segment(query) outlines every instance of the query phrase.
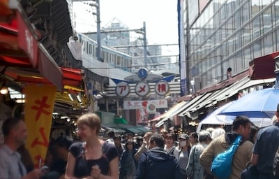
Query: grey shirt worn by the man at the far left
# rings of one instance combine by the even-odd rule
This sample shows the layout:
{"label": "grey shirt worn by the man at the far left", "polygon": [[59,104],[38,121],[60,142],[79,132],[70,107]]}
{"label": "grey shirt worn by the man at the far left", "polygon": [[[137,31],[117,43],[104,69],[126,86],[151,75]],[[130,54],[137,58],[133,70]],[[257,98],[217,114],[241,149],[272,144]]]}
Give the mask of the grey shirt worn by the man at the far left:
{"label": "grey shirt worn by the man at the far left", "polygon": [[27,174],[18,152],[10,150],[7,145],[0,145],[0,156],[1,179],[17,179]]}

